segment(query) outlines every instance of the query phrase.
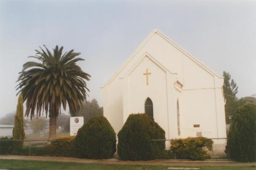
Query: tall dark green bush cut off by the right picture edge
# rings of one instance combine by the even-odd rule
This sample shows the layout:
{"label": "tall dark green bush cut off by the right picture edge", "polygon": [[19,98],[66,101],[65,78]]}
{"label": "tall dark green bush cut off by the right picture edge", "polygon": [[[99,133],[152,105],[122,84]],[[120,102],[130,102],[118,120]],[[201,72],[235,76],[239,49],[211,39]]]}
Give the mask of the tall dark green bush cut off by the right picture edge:
{"label": "tall dark green bush cut off by the right picture edge", "polygon": [[237,109],[231,119],[226,153],[242,162],[256,161],[256,105]]}

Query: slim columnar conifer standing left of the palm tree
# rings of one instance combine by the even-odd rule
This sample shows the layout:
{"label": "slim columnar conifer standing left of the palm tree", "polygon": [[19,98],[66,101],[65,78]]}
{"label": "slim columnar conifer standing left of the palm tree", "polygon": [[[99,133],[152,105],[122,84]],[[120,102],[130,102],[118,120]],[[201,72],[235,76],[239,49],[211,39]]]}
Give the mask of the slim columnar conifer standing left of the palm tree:
{"label": "slim columnar conifer standing left of the palm tree", "polygon": [[[17,113],[15,115],[14,127],[12,131],[13,139],[25,139],[24,132],[24,119],[23,119],[23,98],[22,95],[19,95],[18,104],[17,104]],[[23,145],[23,141],[17,142],[18,145]]]}

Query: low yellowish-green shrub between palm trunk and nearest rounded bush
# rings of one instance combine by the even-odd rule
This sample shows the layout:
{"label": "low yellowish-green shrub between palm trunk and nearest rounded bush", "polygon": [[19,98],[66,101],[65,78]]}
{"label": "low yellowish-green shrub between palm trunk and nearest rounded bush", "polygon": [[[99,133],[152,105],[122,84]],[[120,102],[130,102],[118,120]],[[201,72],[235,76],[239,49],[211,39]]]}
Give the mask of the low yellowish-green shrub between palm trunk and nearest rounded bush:
{"label": "low yellowish-green shrub between palm trunk and nearest rounded bush", "polygon": [[57,137],[50,145],[47,145],[47,155],[58,157],[73,157],[75,156],[74,147],[75,136]]}

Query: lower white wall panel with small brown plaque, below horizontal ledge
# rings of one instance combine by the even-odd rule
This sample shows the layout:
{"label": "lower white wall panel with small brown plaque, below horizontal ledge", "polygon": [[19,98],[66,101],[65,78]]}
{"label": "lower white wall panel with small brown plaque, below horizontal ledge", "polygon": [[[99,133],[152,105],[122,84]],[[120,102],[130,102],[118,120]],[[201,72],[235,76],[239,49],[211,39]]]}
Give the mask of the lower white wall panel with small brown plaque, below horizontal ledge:
{"label": "lower white wall panel with small brown plaque, below horizontal ledge", "polygon": [[[202,136],[216,138],[217,120],[215,114],[214,90],[182,91],[180,98],[180,125],[182,137]],[[194,127],[199,125],[199,127]]]}

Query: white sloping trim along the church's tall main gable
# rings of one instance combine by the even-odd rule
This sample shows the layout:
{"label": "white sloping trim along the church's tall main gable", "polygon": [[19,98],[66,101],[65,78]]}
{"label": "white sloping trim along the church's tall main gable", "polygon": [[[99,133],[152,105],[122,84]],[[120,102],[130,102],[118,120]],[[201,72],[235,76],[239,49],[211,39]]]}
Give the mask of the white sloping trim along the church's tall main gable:
{"label": "white sloping trim along the church's tall main gable", "polygon": [[[169,42],[170,44],[172,44],[175,48],[177,48],[177,50],[179,50],[181,53],[185,54],[188,58],[190,58],[192,61],[194,61],[196,64],[198,64],[198,66],[202,67],[204,70],[206,70],[207,72],[209,72],[211,75],[216,76],[218,78],[223,78],[222,76],[219,76],[218,74],[216,74],[214,71],[212,71],[210,68],[206,67],[202,62],[200,62],[199,60],[197,60],[193,55],[189,54],[186,50],[184,50],[182,47],[180,47],[177,43],[173,42],[169,37],[167,37],[166,35],[164,35],[163,33],[161,33],[161,31],[154,29],[153,31],[151,31],[151,33],[147,36],[147,38],[136,48],[136,50],[132,53],[132,55],[130,55],[130,57],[124,62],[123,66],[121,68],[119,68],[115,74],[108,80],[108,82],[103,86],[105,87],[106,85],[108,85],[109,83],[112,82],[112,80],[115,79],[115,77],[125,68],[125,66],[134,58],[134,56],[141,50],[141,48],[143,46],[145,46],[145,44],[147,44],[147,42],[149,41],[149,39],[154,35],[154,34],[158,34],[159,36],[161,36],[162,38],[164,38],[167,42]],[[102,87],[102,88],[103,88]]]}

